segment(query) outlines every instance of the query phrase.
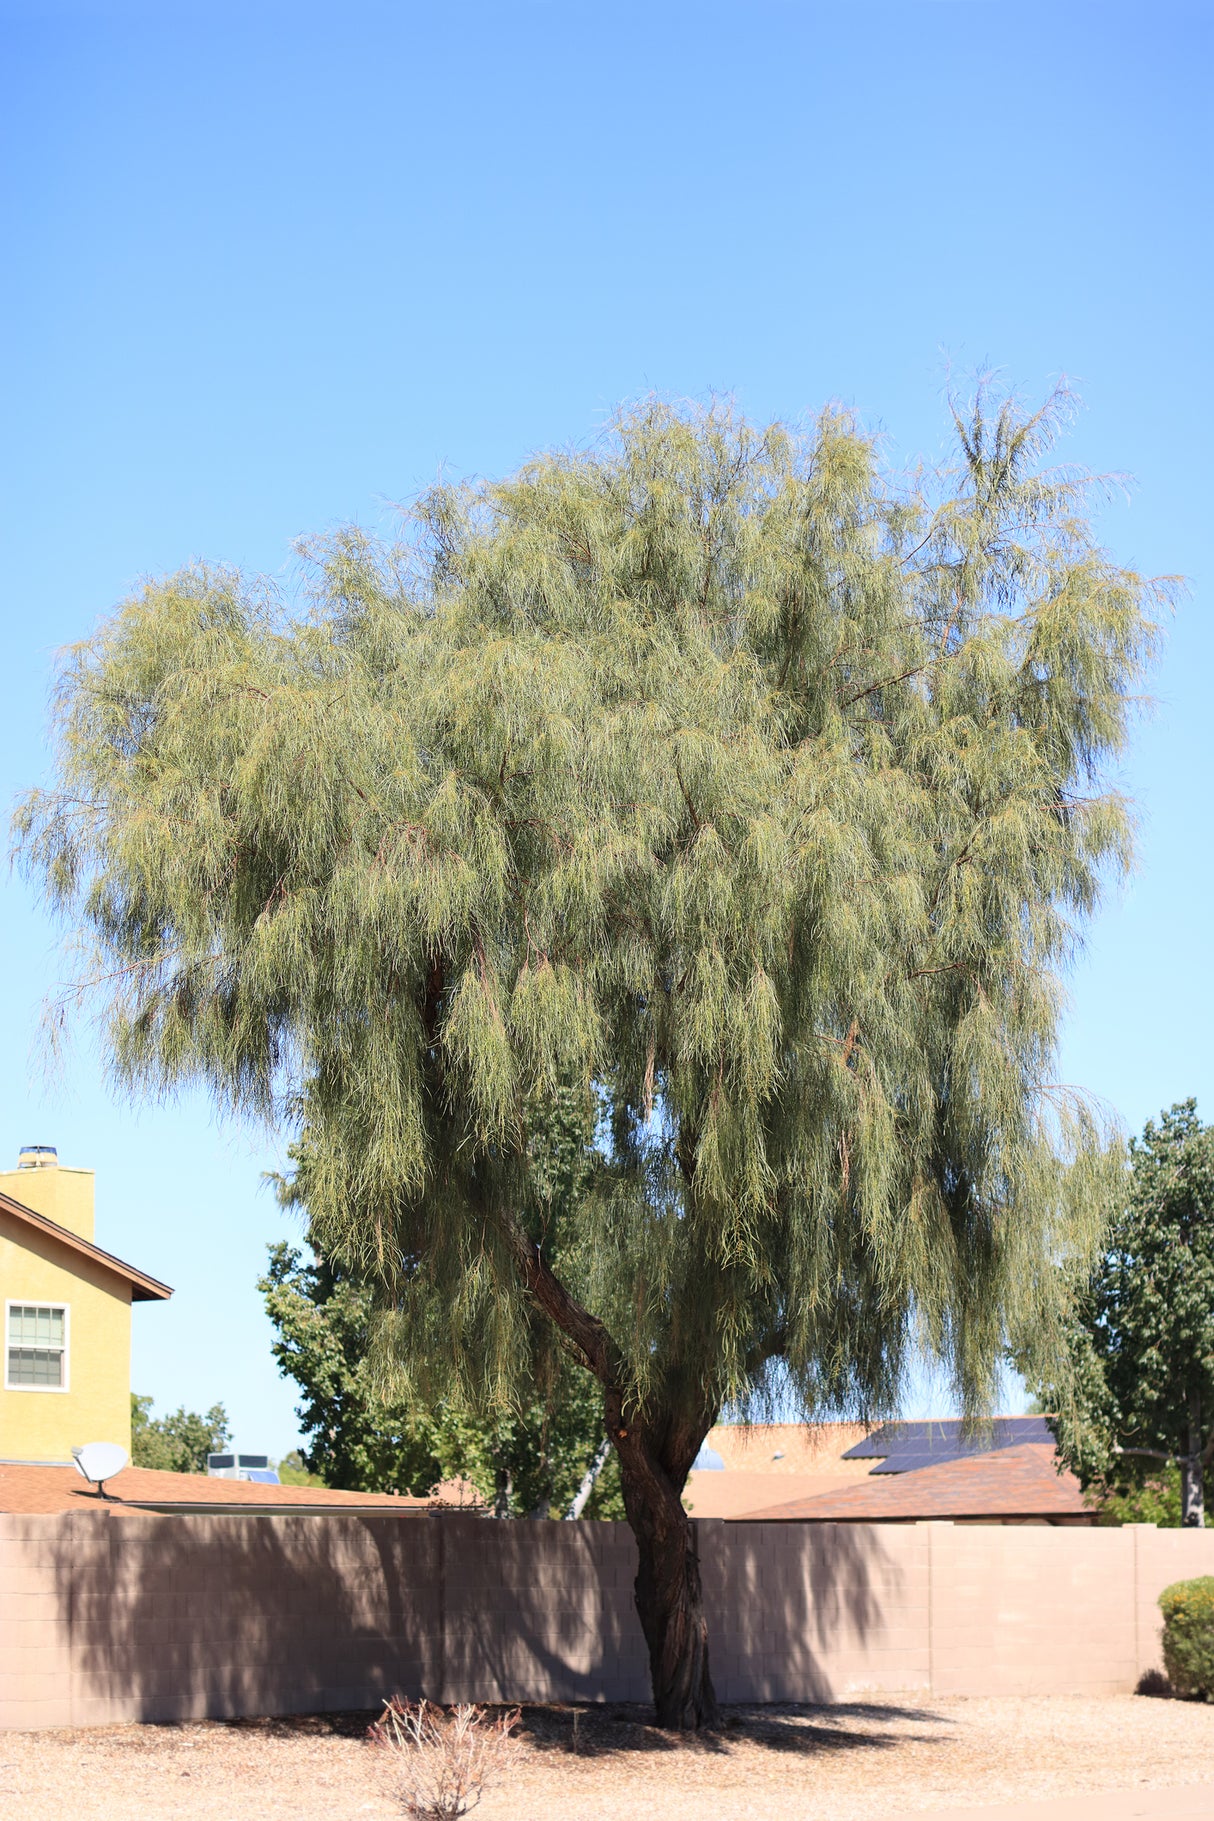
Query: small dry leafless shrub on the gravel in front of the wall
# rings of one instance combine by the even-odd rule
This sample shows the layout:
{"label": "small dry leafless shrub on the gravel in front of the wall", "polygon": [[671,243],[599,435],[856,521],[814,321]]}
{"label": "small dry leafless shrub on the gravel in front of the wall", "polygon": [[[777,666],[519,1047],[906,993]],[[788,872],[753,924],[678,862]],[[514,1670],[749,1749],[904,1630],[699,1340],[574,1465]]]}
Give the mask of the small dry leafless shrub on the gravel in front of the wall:
{"label": "small dry leafless shrub on the gravel in front of the wall", "polygon": [[493,1717],[482,1706],[446,1712],[433,1701],[393,1695],[368,1737],[391,1752],[393,1792],[411,1821],[455,1821],[510,1772],[517,1724],[519,1708]]}

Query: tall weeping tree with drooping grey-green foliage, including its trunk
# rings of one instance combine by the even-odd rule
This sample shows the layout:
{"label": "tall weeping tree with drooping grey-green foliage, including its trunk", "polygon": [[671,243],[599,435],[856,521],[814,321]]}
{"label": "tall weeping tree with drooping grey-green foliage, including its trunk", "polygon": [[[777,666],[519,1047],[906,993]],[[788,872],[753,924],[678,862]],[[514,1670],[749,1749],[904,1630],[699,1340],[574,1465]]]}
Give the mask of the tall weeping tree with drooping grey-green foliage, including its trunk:
{"label": "tall weeping tree with drooping grey-green foliage, including its trunk", "polygon": [[979,1409],[1094,1242],[1059,969],[1161,590],[1043,468],[1065,404],[981,395],[905,483],[841,412],[646,402],[64,661],[18,838],[116,1074],[298,1124],[402,1371],[510,1395],[541,1317],[593,1375],[668,1726],[715,1712],[681,1490],[723,1404],[885,1413],[928,1348]]}

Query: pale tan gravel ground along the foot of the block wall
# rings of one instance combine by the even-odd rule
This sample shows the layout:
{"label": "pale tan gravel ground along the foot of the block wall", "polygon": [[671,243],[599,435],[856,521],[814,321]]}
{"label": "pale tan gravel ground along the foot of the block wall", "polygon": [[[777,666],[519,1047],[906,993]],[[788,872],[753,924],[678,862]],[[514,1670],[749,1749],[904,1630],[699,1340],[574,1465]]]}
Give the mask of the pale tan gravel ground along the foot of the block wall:
{"label": "pale tan gravel ground along the foot of the block wall", "polygon": [[[11,1732],[0,1808],[20,1799],[40,1821],[399,1816],[368,1719]],[[526,1708],[521,1741],[479,1821],[894,1821],[1077,1792],[1214,1792],[1214,1706],[1136,1695],[730,1708],[721,1734],[690,1741],[641,1708]]]}

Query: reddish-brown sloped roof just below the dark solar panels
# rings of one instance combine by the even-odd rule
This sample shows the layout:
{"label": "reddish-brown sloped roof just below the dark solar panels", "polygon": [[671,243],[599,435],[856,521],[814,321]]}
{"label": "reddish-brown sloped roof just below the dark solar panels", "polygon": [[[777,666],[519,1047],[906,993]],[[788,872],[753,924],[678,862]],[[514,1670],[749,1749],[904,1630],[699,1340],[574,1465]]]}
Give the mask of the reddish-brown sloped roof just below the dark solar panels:
{"label": "reddish-brown sloped roof just below the dark solar panels", "polygon": [[1056,1453],[1037,1442],[999,1448],[912,1473],[870,1477],[812,1499],[792,1499],[739,1513],[748,1521],[872,1524],[919,1519],[1088,1519],[1079,1480],[1056,1470]]}

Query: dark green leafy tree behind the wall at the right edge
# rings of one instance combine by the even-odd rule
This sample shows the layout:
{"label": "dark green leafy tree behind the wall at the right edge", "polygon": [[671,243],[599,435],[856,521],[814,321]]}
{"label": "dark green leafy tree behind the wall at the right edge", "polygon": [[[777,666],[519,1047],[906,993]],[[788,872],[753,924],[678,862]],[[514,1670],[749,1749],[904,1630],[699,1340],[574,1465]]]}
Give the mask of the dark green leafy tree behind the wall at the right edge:
{"label": "dark green leafy tree behind the wall at the right edge", "polygon": [[[1127,1193],[1076,1298],[1059,1450],[1108,1515],[1205,1522],[1214,1464],[1214,1129],[1183,1100],[1130,1144]],[[1179,1477],[1176,1499],[1176,1473]],[[1170,1497],[1168,1497],[1170,1493]],[[1132,1521],[1132,1519],[1127,1519]]]}

